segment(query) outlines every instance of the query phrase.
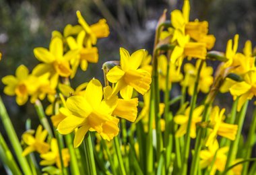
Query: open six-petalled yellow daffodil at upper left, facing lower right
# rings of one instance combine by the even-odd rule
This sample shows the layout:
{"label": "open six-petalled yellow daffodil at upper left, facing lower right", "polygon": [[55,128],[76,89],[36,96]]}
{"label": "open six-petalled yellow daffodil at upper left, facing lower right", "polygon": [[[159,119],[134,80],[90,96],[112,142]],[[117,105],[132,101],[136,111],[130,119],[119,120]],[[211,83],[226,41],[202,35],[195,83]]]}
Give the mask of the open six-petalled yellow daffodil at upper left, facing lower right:
{"label": "open six-petalled yellow daffodil at upper left, facing lower right", "polygon": [[77,50],[69,50],[63,53],[63,41],[61,38],[53,38],[50,43],[49,50],[46,48],[34,48],[34,55],[38,61],[42,61],[37,65],[32,74],[43,75],[44,73],[51,73],[51,83],[57,86],[59,76],[69,77],[72,73],[69,61],[77,57]]}

